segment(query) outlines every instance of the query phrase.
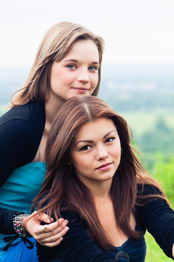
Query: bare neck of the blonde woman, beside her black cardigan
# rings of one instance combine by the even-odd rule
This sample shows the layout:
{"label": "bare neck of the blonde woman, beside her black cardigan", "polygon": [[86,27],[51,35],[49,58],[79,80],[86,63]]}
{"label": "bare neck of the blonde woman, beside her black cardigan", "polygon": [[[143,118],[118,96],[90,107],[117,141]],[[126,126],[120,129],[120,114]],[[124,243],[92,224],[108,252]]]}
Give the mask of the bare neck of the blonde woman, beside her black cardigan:
{"label": "bare neck of the blonde woman, beside her black cardigan", "polygon": [[64,102],[64,100],[57,97],[55,98],[55,96],[50,93],[50,99],[45,103],[46,123],[49,126]]}

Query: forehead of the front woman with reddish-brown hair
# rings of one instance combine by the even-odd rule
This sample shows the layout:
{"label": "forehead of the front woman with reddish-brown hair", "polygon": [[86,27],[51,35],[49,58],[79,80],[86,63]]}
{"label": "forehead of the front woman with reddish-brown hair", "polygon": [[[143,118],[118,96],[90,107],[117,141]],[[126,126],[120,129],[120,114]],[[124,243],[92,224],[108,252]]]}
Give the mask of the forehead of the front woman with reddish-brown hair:
{"label": "forehead of the front woman with reddish-brown hair", "polygon": [[[100,118],[99,120],[95,122],[86,123],[79,128],[77,132],[77,136],[75,137],[75,140],[78,139],[97,139],[102,138],[108,134],[110,131],[117,132],[117,129],[111,119],[107,118]],[[111,132],[112,134],[112,132]]]}

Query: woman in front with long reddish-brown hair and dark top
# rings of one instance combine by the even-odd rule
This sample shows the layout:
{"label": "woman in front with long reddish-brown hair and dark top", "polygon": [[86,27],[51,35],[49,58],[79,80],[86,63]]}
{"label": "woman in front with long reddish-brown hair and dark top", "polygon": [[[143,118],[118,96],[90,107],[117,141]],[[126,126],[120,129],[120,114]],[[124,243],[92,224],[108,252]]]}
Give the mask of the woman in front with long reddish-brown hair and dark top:
{"label": "woman in front with long reddish-brown hair and dark top", "polygon": [[38,243],[39,261],[142,262],[146,229],[173,259],[174,212],[134,152],[126,121],[105,102],[85,96],[64,103],[32,210],[64,217],[69,231],[56,247]]}

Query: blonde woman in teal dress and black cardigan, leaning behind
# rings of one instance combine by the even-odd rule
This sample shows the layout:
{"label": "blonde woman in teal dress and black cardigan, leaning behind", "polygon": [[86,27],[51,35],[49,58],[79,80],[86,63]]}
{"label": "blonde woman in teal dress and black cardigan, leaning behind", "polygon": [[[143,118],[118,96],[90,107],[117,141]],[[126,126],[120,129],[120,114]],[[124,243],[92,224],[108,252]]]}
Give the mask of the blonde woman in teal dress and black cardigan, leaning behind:
{"label": "blonde woman in teal dress and black cardigan, leaning behind", "polygon": [[[16,256],[13,261],[37,261],[35,247],[21,254],[21,240],[29,249],[33,247],[29,235],[41,245],[54,247],[68,230],[68,221],[61,218],[50,223],[46,214],[38,222],[32,214],[25,226],[22,223],[43,183],[50,125],[68,98],[98,94],[103,49],[103,39],[81,25],[61,22],[52,26],[41,41],[26,83],[12,99],[12,108],[0,118],[2,261],[8,261],[12,248]],[[48,224],[46,229],[41,221]]]}

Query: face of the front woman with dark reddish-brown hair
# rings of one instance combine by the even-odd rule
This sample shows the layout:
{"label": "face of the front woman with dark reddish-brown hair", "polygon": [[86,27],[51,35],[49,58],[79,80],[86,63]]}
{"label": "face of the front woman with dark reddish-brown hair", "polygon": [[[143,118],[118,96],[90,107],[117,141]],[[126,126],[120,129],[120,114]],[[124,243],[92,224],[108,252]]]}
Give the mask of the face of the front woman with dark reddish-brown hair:
{"label": "face of the front woman with dark reddish-brown hair", "polygon": [[113,178],[120,162],[121,146],[112,120],[83,125],[70,145],[70,160],[77,177],[85,184]]}

